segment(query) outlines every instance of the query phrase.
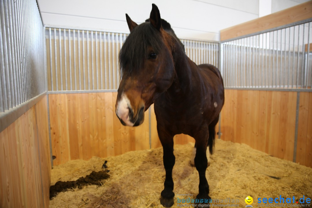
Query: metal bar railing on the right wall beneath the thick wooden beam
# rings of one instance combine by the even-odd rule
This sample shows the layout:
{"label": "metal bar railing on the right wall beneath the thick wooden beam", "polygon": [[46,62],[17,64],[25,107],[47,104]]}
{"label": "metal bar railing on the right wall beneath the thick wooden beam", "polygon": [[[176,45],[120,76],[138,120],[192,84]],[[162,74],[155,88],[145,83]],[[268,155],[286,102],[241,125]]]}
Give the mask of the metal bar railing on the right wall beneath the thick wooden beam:
{"label": "metal bar railing on the right wall beneath the thick wooden beam", "polygon": [[221,42],[225,87],[311,90],[311,19]]}

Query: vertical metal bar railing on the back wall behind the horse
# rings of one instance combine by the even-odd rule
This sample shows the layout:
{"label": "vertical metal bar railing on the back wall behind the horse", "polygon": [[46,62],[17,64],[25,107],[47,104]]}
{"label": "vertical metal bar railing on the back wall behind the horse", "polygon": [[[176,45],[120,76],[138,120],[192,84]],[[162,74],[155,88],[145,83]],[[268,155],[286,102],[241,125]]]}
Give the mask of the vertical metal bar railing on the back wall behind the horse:
{"label": "vertical metal bar railing on the back wall behind the horse", "polygon": [[[49,91],[116,90],[125,33],[46,27]],[[197,64],[218,64],[218,42],[181,40]]]}

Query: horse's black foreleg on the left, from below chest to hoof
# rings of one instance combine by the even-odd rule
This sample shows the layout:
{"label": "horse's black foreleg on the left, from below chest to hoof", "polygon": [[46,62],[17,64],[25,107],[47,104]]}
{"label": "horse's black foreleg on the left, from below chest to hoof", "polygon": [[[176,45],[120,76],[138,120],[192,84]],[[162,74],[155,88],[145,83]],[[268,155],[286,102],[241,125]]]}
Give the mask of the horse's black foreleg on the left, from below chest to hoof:
{"label": "horse's black foreleg on the left, from below chest to hoof", "polygon": [[164,189],[161,192],[160,203],[164,207],[171,207],[173,205],[173,179],[172,179],[172,169],[175,163],[175,157],[173,154],[173,137],[168,135],[163,135],[159,133],[159,139],[163,145],[163,166],[166,170],[166,179],[164,182]]}

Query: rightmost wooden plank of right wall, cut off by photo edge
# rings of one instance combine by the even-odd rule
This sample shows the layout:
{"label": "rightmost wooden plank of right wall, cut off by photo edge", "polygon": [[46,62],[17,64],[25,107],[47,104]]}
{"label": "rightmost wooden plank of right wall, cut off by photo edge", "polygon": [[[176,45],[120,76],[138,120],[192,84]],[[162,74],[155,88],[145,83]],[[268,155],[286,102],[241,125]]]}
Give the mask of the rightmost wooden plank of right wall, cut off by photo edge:
{"label": "rightmost wooden plank of right wall, cut off by photo edge", "polygon": [[308,112],[308,129],[307,144],[305,146],[305,166],[312,167],[312,92],[309,93],[309,112]]}

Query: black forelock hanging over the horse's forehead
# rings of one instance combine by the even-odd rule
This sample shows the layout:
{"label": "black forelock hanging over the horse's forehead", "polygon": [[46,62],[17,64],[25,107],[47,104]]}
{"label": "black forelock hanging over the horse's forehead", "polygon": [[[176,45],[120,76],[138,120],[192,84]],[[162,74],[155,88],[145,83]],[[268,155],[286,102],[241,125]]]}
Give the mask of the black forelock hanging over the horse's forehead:
{"label": "black forelock hanging over the horse's forehead", "polygon": [[129,72],[142,67],[144,60],[149,58],[150,47],[153,48],[153,52],[159,53],[163,43],[158,32],[149,22],[134,27],[119,52],[121,75],[123,75],[126,66],[129,67]]}

